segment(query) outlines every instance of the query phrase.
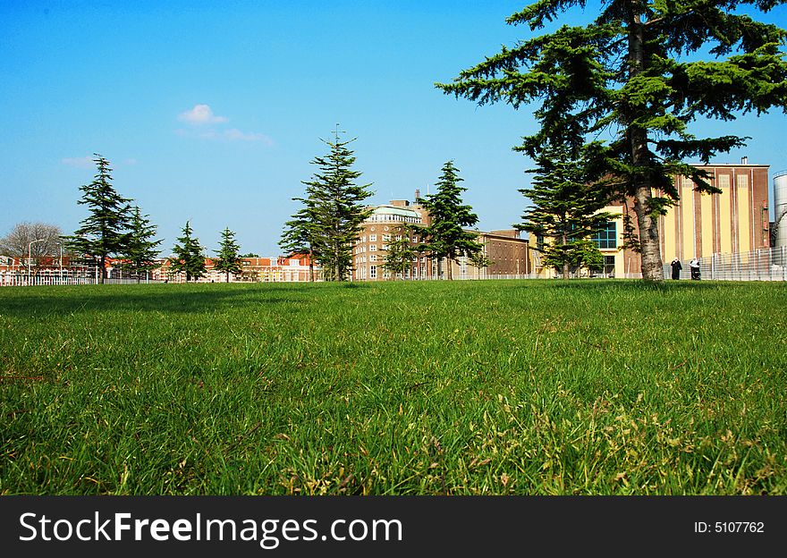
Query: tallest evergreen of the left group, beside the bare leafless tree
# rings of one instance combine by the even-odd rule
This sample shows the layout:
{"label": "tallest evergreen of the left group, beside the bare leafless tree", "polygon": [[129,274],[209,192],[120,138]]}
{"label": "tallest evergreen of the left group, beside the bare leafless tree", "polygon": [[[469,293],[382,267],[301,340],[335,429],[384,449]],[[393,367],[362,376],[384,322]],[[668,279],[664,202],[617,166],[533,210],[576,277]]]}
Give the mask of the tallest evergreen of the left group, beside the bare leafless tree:
{"label": "tallest evergreen of the left group, beside the bare leafless tree", "polygon": [[72,236],[64,237],[66,246],[91,258],[100,269],[100,281],[106,279],[106,258],[123,254],[129,242],[131,199],[123,198],[112,185],[112,169],[103,156],[93,161],[98,171],[93,182],[80,186],[82,197],[77,202],[89,208],[90,215]]}

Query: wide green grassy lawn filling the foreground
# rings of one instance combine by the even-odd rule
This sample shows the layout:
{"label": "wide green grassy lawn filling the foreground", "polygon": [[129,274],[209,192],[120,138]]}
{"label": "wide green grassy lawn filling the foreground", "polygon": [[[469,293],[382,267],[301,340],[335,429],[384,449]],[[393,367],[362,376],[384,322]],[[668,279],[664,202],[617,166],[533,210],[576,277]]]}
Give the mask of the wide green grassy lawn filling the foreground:
{"label": "wide green grassy lawn filling the foreground", "polygon": [[0,494],[787,494],[787,288],[0,290]]}

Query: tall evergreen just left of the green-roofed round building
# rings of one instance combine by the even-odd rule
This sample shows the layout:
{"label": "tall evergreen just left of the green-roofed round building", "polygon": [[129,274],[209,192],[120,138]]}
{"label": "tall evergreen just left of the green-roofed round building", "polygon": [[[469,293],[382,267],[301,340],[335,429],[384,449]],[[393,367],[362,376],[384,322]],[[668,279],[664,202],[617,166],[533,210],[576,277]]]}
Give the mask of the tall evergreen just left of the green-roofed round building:
{"label": "tall evergreen just left of the green-roofed round building", "polygon": [[293,230],[322,266],[326,281],[344,281],[351,274],[352,247],[360,237],[361,224],[371,215],[371,209],[361,203],[372,195],[371,184],[355,183],[361,173],[351,169],[355,156],[347,147],[354,139],[340,141],[337,132],[334,141],[323,141],[330,151],[311,161],[319,171],[303,182],[308,201],[305,211],[296,214],[307,225]]}

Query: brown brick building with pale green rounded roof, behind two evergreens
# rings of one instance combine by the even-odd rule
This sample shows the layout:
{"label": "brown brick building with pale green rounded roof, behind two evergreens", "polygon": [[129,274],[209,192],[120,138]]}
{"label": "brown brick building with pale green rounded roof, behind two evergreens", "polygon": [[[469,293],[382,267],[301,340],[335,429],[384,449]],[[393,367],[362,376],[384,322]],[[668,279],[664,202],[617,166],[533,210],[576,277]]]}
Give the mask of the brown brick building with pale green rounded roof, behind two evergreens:
{"label": "brown brick building with pale green rounded roof, behind two evergreens", "polygon": [[[415,192],[419,199],[419,190]],[[419,204],[406,199],[394,199],[389,204],[377,206],[363,223],[360,238],[352,253],[353,281],[383,281],[393,279],[385,269],[385,256],[391,241],[402,239],[407,225],[428,226],[431,219],[427,210]],[[483,253],[491,260],[486,268],[472,266],[469,258],[459,258],[452,262],[452,276],[456,279],[476,279],[485,277],[504,277],[528,275],[530,273],[529,242],[519,237],[518,231],[478,232],[478,242]],[[410,240],[413,241],[410,237]],[[439,279],[447,275],[444,260],[430,258],[420,253],[412,260],[401,279]]]}

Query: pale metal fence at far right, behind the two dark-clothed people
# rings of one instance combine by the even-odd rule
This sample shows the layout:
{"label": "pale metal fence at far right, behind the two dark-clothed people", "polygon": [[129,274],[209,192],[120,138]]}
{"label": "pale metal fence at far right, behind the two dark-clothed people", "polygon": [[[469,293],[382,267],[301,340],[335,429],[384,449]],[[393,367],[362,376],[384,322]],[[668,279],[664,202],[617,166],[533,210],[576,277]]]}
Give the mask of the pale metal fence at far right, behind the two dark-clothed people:
{"label": "pale metal fence at far right, behind the two dark-clothed people", "polygon": [[[682,261],[681,279],[690,279],[689,260]],[[787,247],[757,249],[736,254],[714,254],[699,261],[700,279],[715,281],[787,281]],[[672,276],[669,263],[664,277]]]}

